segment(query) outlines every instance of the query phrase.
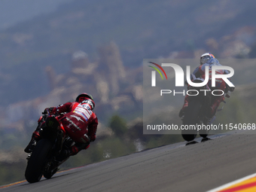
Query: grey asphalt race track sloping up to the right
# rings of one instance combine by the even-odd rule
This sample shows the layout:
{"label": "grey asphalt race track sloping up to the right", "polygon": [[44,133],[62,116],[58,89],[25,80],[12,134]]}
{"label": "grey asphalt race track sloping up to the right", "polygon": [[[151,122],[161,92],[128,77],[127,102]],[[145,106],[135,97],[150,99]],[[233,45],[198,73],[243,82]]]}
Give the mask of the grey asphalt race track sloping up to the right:
{"label": "grey asphalt race track sloping up to the right", "polygon": [[0,191],[189,191],[211,190],[256,172],[256,135],[213,136],[94,163]]}

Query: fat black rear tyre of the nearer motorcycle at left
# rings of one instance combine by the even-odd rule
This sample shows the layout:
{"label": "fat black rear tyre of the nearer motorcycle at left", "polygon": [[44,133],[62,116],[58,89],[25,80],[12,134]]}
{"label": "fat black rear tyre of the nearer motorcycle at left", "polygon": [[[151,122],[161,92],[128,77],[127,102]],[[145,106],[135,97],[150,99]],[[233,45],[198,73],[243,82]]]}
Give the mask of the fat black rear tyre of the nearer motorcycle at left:
{"label": "fat black rear tyre of the nearer motorcycle at left", "polygon": [[35,145],[32,155],[26,166],[25,178],[29,183],[40,181],[43,169],[47,160],[47,155],[52,148],[52,142],[48,139],[41,139]]}

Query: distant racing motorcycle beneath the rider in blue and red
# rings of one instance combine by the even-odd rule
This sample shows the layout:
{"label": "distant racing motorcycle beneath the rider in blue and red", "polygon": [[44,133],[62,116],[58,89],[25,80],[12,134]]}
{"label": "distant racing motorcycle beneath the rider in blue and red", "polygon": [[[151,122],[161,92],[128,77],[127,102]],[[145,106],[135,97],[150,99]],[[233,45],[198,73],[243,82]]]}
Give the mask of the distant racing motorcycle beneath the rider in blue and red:
{"label": "distant racing motorcycle beneath the rider in blue and red", "polygon": [[[202,83],[203,81],[204,80],[202,78],[197,78],[194,80],[194,83]],[[197,125],[212,124],[212,122],[215,120],[216,112],[221,111],[224,106],[221,109],[216,110],[215,115],[213,115],[212,118],[208,118],[206,117],[206,114],[209,111],[211,103],[214,99],[214,96],[212,96],[212,90],[209,88],[209,86],[207,84],[203,87],[189,86],[187,94],[188,105],[187,108],[185,108],[184,116],[181,117],[181,120],[184,126],[194,126],[194,129],[181,130],[181,136],[185,141],[191,142],[197,137]],[[199,134],[201,137],[203,137],[202,142],[208,140],[207,136],[209,134],[209,130],[201,129],[199,130]]]}

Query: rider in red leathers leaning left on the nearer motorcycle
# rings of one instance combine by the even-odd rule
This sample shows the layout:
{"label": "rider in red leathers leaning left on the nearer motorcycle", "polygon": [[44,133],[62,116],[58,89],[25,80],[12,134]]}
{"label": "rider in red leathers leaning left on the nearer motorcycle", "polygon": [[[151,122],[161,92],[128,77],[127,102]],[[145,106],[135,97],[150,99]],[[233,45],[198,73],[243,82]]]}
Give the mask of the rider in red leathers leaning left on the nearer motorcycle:
{"label": "rider in red leathers leaning left on the nearer motorcycle", "polygon": [[[93,97],[87,93],[80,94],[75,102],[66,102],[53,108],[46,108],[44,111],[50,111],[50,114],[63,114],[59,120],[62,122],[66,133],[75,142],[71,148],[62,150],[57,156],[57,160],[62,161],[67,157],[78,154],[82,149],[87,149],[90,142],[96,139],[96,130],[98,126],[98,118],[93,112],[95,103]],[[40,129],[46,126],[43,117],[38,120],[38,127],[32,134],[32,139],[29,145],[25,148],[26,153],[32,152],[36,142],[40,137]]]}

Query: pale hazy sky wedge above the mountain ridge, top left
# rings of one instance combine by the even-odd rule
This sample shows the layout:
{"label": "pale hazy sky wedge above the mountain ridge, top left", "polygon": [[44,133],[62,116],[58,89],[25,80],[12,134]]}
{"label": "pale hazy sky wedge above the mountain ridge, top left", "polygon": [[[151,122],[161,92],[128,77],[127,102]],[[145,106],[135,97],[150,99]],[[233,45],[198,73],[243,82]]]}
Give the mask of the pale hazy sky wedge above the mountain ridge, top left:
{"label": "pale hazy sky wedge above the mountain ridge, top left", "polygon": [[0,0],[0,30],[45,14],[74,0]]}

